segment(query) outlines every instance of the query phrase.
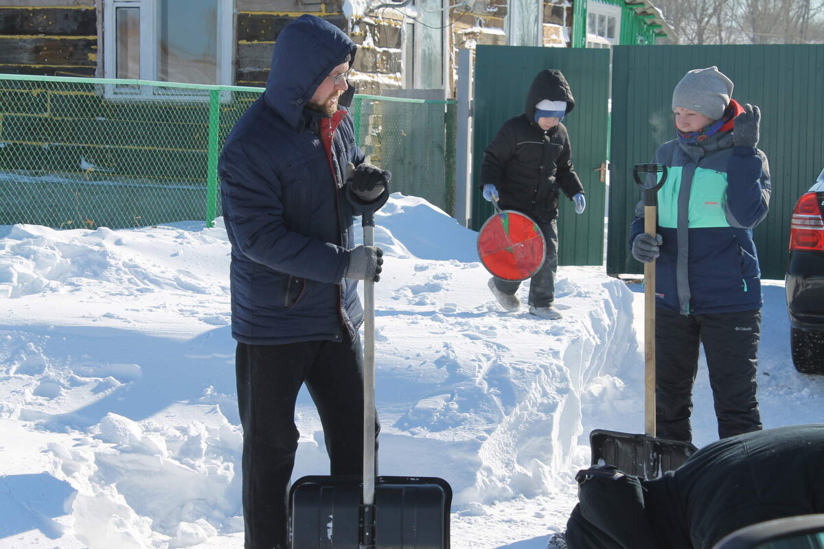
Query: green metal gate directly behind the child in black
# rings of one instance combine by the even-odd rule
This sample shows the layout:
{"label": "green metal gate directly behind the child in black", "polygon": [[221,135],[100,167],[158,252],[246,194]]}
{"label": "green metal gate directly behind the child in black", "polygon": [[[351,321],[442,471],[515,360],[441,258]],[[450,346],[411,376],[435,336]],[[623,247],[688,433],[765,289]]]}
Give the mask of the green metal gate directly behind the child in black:
{"label": "green metal gate directly behind the child in black", "polygon": [[576,106],[564,119],[573,162],[587,195],[587,210],[576,215],[562,197],[559,207],[559,263],[601,265],[606,185],[597,169],[606,162],[609,51],[606,49],[478,46],[475,58],[472,219],[479,230],[493,208],[480,194],[484,149],[508,119],[522,114],[536,74],[556,68],[569,81]]}

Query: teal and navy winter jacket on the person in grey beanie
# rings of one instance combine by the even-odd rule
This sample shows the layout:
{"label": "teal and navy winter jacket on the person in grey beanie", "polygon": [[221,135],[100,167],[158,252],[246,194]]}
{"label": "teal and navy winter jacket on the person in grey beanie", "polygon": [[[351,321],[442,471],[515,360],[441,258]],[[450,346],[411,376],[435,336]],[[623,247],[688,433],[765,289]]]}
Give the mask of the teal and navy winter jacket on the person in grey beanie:
{"label": "teal and navy winter jacket on the person in grey beanie", "polygon": [[[658,307],[681,314],[761,308],[752,229],[769,209],[770,168],[759,149],[733,147],[732,128],[731,121],[704,142],[676,139],[655,152],[653,162],[668,168],[658,190]],[[644,232],[643,201],[635,215],[630,246]]]}

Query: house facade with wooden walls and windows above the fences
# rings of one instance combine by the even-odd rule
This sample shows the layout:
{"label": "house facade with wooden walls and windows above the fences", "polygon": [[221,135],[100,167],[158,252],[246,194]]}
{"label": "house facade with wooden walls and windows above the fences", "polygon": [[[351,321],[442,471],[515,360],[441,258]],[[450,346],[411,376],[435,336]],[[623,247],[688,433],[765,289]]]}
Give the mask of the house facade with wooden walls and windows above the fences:
{"label": "house facade with wooden walls and windows above the fences", "polygon": [[360,93],[454,96],[459,49],[604,48],[672,29],[648,0],[7,0],[0,72],[264,86],[283,26],[303,13],[361,46]]}

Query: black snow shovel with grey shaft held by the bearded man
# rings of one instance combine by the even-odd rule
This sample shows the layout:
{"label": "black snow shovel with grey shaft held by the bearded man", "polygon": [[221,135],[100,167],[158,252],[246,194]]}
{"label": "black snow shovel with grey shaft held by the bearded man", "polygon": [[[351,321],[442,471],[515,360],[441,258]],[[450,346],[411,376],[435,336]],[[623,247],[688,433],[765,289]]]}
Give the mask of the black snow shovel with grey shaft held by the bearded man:
{"label": "black snow shovel with grey shaft held by the bearded man", "polygon": [[[374,212],[386,202],[347,198],[374,245]],[[291,549],[448,549],[452,488],[436,477],[377,477],[375,470],[375,283],[363,283],[363,477],[302,477],[289,491]]]}

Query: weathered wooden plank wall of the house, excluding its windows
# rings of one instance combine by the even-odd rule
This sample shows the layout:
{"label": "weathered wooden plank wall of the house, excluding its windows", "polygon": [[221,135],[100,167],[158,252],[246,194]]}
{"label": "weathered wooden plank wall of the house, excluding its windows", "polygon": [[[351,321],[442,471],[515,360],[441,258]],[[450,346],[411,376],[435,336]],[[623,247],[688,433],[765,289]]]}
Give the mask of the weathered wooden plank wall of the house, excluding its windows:
{"label": "weathered wooden plank wall of the house, excluding its windows", "polygon": [[[377,1],[377,0],[376,0]],[[6,0],[0,7],[0,72],[51,76],[102,77],[101,0]],[[562,0],[544,0],[544,43],[557,44],[572,10]],[[458,49],[506,44],[503,18],[507,0],[477,0],[470,10],[449,12],[447,63],[452,70],[447,96],[454,95]],[[403,17],[396,10],[353,16],[344,0],[236,0],[234,81],[265,86],[274,42],[297,16],[323,17],[361,46],[351,78],[363,94],[403,86]],[[379,15],[379,16],[378,16]]]}

